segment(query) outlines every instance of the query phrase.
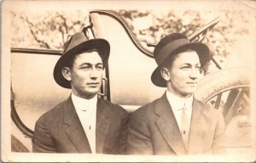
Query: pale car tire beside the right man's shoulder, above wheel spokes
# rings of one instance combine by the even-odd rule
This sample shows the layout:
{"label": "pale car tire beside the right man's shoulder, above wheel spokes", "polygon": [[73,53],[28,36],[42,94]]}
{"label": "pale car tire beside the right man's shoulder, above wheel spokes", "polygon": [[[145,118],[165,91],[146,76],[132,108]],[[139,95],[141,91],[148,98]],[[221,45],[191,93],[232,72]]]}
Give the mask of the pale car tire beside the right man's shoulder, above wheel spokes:
{"label": "pale car tire beside the right man's shoulder, above wheel spokes", "polygon": [[248,68],[244,67],[230,68],[204,76],[198,84],[195,97],[207,103],[218,93],[238,87],[249,87],[250,73],[248,73],[248,70]]}

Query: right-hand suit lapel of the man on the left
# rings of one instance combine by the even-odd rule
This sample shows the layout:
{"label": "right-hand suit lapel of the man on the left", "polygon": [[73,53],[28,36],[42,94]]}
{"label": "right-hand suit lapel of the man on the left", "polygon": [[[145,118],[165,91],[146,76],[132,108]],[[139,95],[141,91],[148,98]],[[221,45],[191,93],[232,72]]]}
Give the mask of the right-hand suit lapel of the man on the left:
{"label": "right-hand suit lapel of the man on the left", "polygon": [[[108,106],[98,98],[96,110],[96,153],[102,154],[110,126]],[[107,143],[107,142],[106,142]]]}

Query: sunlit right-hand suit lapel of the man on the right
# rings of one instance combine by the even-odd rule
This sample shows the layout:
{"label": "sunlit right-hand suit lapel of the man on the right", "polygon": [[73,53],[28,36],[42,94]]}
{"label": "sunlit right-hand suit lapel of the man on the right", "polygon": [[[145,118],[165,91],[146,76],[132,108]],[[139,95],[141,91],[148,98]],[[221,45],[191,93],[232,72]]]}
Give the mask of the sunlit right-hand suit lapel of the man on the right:
{"label": "sunlit right-hand suit lapel of the man on the right", "polygon": [[203,147],[203,137],[207,130],[207,114],[204,105],[194,98],[189,131],[189,154],[196,154]]}

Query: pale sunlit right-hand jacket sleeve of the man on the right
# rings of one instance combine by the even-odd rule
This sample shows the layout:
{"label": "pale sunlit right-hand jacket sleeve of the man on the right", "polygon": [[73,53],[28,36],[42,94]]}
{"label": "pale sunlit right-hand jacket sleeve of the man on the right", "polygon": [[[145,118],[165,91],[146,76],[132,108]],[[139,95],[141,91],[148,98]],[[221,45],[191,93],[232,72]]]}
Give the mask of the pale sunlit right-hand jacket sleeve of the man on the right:
{"label": "pale sunlit right-hand jacket sleeve of the man on the right", "polygon": [[212,143],[212,154],[223,155],[226,153],[225,143],[224,143],[224,117],[218,111],[218,120],[215,128],[213,143]]}

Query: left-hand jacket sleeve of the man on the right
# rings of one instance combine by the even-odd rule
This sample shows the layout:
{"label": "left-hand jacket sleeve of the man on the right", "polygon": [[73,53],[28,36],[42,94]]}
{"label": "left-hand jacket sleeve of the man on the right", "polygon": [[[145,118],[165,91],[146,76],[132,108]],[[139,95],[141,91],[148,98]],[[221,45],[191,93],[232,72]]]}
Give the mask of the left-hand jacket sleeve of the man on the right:
{"label": "left-hand jacket sleeve of the man on the right", "polygon": [[129,155],[154,155],[147,122],[137,114],[131,115],[128,126],[127,153]]}

